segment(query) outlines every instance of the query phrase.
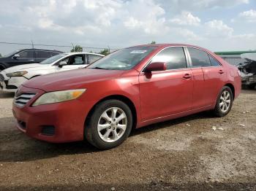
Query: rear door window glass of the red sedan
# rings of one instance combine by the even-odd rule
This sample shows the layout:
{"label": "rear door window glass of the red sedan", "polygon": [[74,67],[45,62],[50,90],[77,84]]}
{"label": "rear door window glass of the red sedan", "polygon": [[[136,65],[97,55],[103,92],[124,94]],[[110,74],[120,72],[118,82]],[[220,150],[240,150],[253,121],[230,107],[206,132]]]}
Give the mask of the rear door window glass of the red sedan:
{"label": "rear door window glass of the red sedan", "polygon": [[192,60],[192,67],[207,67],[211,66],[211,61],[206,52],[195,48],[188,48]]}

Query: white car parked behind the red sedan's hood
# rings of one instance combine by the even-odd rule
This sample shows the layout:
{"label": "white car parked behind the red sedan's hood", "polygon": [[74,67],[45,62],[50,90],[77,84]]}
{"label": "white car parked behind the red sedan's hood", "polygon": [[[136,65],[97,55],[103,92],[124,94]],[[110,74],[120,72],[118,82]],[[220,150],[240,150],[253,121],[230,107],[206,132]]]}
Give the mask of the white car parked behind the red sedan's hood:
{"label": "white car parked behind the red sedan's hood", "polygon": [[0,90],[15,92],[23,82],[33,77],[84,68],[102,57],[104,55],[91,52],[67,52],[55,55],[41,63],[10,67],[0,72]]}

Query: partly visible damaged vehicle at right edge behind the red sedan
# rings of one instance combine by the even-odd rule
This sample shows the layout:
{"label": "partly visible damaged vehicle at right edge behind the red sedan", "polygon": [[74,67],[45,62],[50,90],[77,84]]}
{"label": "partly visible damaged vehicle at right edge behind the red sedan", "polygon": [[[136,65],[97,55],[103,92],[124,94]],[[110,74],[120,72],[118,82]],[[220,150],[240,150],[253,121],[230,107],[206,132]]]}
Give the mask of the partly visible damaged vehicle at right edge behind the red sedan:
{"label": "partly visible damaged vehicle at right edge behind the red sedan", "polygon": [[256,85],[256,53],[241,54],[245,61],[237,65],[241,72],[242,85],[250,90],[255,89]]}

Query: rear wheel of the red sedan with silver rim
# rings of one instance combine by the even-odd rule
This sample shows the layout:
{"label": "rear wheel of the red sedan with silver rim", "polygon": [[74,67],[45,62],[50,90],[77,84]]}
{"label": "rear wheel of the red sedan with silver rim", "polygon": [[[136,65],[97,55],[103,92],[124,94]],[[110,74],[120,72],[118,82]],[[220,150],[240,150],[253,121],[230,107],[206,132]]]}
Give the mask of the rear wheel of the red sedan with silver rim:
{"label": "rear wheel of the red sedan with silver rim", "polygon": [[220,91],[214,108],[214,114],[217,117],[224,117],[230,112],[233,104],[233,93],[230,87],[224,86]]}

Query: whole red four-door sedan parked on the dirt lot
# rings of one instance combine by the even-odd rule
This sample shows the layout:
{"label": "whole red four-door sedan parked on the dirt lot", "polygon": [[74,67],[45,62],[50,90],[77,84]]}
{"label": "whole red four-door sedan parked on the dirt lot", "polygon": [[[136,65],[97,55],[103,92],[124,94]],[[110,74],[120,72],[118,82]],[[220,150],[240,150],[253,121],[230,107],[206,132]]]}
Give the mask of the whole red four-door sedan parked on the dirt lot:
{"label": "whole red four-door sedan parked on the dirt lot", "polygon": [[128,47],[86,69],[25,82],[15,94],[17,128],[49,142],[121,144],[132,128],[206,110],[225,116],[241,91],[238,69],[201,47]]}

